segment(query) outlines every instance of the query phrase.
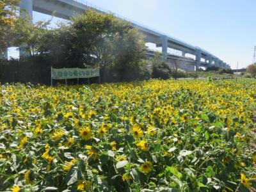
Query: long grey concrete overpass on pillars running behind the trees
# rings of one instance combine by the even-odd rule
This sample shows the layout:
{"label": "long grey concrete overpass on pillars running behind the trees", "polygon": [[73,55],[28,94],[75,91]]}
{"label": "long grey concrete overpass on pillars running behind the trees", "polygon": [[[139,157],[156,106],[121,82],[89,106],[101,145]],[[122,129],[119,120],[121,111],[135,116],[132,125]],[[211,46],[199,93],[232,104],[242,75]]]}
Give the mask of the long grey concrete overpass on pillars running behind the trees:
{"label": "long grey concrete overpass on pillars running behind the trees", "polygon": [[[86,10],[92,9],[103,13],[111,13],[108,10],[103,10],[102,8],[94,6],[93,4],[90,4],[84,0],[22,0],[20,3],[20,8],[27,10],[27,12],[31,15],[31,18],[33,17],[33,11],[35,11],[45,13],[47,15],[52,15],[54,13],[56,17],[67,20],[69,20],[70,17],[83,14],[86,12]],[[143,33],[143,35],[145,35],[146,43],[153,43],[156,44],[156,47],[161,47],[164,60],[181,60],[184,61],[184,63],[188,63],[188,65],[193,65],[193,68],[211,67],[212,65],[216,67],[230,68],[230,66],[221,61],[220,58],[200,47],[189,45],[186,42],[178,40],[177,38],[173,38],[172,36],[161,33],[160,31],[148,28],[142,24],[138,24],[135,21],[122,17],[121,15],[114,15],[120,19],[131,22],[132,27],[138,29],[141,31],[141,33]],[[168,53],[168,48],[181,51],[182,56],[179,56],[179,58],[177,58],[177,56],[173,56],[172,54]],[[20,52],[20,55],[24,54],[26,53]],[[195,60],[188,59],[186,54],[194,55]],[[152,51],[150,52],[148,50],[148,55],[152,55]],[[186,69],[186,67],[184,69]],[[187,70],[191,69],[191,67],[187,68]]]}

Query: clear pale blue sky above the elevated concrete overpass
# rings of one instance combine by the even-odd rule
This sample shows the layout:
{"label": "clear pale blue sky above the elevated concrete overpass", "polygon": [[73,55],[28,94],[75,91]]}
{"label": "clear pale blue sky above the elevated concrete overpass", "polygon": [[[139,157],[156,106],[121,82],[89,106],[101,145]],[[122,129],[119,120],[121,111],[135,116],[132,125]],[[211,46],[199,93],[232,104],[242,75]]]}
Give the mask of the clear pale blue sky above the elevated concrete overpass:
{"label": "clear pale blue sky above the elevated concrete overpass", "polygon": [[[77,0],[81,1],[81,0]],[[218,56],[232,68],[252,63],[256,0],[91,0]],[[33,13],[34,20],[49,19]],[[58,19],[54,19],[56,21]]]}

